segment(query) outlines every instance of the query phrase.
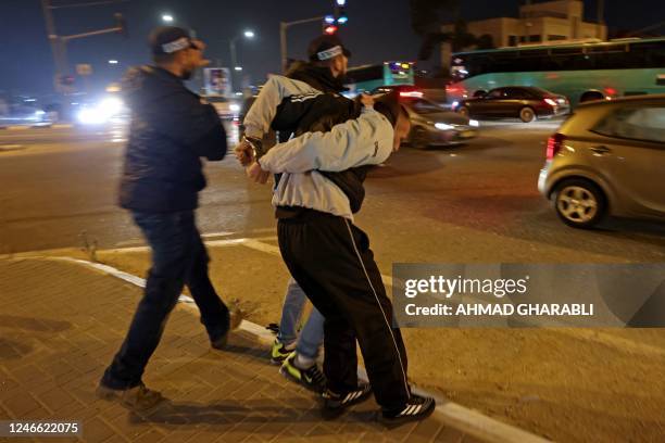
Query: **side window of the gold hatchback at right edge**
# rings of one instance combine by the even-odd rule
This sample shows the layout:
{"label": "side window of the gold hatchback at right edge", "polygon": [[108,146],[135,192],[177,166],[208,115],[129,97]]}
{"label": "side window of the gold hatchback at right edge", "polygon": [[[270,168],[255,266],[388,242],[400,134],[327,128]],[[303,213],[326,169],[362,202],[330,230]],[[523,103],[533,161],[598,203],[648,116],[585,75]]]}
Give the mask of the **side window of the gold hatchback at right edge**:
{"label": "side window of the gold hatchback at right edge", "polygon": [[608,137],[665,143],[665,106],[617,110],[601,121],[593,131]]}

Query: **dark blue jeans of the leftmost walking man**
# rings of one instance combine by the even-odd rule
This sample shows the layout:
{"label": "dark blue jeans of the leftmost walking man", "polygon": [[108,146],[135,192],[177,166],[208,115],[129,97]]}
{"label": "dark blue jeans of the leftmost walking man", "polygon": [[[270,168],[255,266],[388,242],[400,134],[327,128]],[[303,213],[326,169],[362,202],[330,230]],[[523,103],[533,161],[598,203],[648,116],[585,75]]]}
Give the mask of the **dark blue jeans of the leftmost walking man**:
{"label": "dark blue jeans of the leftmost walking man", "polygon": [[134,212],[133,216],[152,250],[152,267],[127,337],[101,380],[112,389],[141,383],[146,365],[185,286],[199,306],[211,341],[227,333],[230,325],[228,308],[208,277],[209,257],[193,211]]}

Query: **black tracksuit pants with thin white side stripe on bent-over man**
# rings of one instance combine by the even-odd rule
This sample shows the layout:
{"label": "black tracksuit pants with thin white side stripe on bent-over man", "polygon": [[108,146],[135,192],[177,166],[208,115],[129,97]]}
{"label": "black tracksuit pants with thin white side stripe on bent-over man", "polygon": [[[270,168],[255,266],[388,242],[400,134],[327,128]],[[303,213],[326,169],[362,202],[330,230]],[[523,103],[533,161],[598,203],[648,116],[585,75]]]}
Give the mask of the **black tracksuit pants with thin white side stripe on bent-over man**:
{"label": "black tracksuit pants with thin white side stripe on bent-over man", "polygon": [[367,235],[346,218],[312,210],[280,217],[277,232],[291,275],[326,319],[328,389],[356,389],[357,339],[377,403],[403,407],[410,395],[406,352]]}

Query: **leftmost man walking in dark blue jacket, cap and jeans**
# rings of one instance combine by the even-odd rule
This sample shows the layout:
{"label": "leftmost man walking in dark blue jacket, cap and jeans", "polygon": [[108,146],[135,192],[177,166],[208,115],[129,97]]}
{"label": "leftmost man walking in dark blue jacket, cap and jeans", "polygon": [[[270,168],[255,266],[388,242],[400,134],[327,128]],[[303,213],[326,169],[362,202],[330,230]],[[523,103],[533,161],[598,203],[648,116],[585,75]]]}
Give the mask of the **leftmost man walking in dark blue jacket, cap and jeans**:
{"label": "leftmost man walking in dark blue jacket, cap and jeans", "polygon": [[121,181],[121,206],[131,212],[152,250],[146,290],[125,341],[106,368],[98,395],[148,409],[163,400],[141,377],[166,319],[187,286],[213,347],[223,347],[229,309],[208,277],[209,257],[195,221],[205,187],[201,157],[219,161],[226,134],[214,107],[183,80],[203,66],[204,46],[177,27],[150,36],[154,64],[129,69],[123,85],[131,126]]}

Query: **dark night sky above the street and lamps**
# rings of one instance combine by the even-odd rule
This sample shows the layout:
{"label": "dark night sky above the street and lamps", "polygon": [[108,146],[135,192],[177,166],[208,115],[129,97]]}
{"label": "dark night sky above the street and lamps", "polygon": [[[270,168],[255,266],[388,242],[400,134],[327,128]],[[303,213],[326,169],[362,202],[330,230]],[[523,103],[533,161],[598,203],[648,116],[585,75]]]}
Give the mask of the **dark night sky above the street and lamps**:
{"label": "dark night sky above the street and lamps", "polygon": [[[53,4],[91,0],[53,0]],[[279,22],[296,21],[331,12],[332,0],[130,0],[126,3],[54,11],[60,35],[78,34],[113,26],[113,13],[122,12],[129,37],[106,35],[76,40],[68,46],[70,65],[91,64],[92,84],[118,78],[127,66],[149,60],[146,36],[160,25],[161,14],[172,13],[179,26],[196,29],[208,42],[206,56],[228,65],[228,39],[251,28],[253,41],[238,41],[238,62],[262,83],[279,67]],[[387,60],[415,61],[418,37],[412,31],[409,0],[348,0],[349,23],[340,33],[353,52],[351,65]],[[606,0],[606,22],[614,28],[638,29],[665,17],[663,0]],[[467,20],[516,16],[519,0],[463,0]],[[595,0],[588,0],[587,20],[595,20]],[[321,34],[319,24],[289,29],[289,56],[304,59],[310,39]],[[226,41],[225,41],[226,40]],[[112,66],[108,60],[117,59]],[[0,91],[41,94],[50,92],[53,61],[47,41],[39,0],[0,0]],[[432,63],[438,61],[432,60]]]}

